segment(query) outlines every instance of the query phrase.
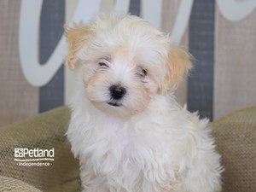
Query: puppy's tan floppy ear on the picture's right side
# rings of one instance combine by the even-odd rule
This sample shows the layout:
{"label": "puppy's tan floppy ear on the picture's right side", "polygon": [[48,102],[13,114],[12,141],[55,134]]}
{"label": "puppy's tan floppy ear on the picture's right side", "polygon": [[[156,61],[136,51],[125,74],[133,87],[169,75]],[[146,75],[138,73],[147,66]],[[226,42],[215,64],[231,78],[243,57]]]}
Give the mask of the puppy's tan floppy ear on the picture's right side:
{"label": "puppy's tan floppy ear on the picture's right side", "polygon": [[183,77],[189,73],[191,69],[192,55],[184,49],[172,46],[168,54],[166,62],[166,75],[162,92],[167,93],[175,90],[177,85],[183,80]]}

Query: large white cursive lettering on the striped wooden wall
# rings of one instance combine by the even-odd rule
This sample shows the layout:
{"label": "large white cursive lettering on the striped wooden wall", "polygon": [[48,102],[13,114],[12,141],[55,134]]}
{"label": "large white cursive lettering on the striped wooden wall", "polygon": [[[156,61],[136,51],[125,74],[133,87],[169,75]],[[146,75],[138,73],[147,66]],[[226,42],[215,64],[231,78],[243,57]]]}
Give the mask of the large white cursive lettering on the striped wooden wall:
{"label": "large white cursive lettering on the striped wooden wall", "polygon": [[[102,0],[79,0],[72,23],[87,23],[90,18],[101,9]],[[194,0],[182,0],[171,32],[175,44],[179,44],[185,28],[189,23],[189,16]],[[255,0],[237,2],[236,0],[217,0],[218,8],[227,20],[237,21],[247,17],[256,8]],[[20,7],[19,52],[22,72],[26,80],[34,86],[48,84],[63,62],[67,44],[64,36],[56,45],[49,60],[44,65],[38,61],[39,20],[43,0],[22,0]],[[116,0],[113,10],[126,14],[130,0]],[[162,1],[142,0],[142,17],[153,26],[160,28]],[[70,25],[72,25],[72,23]]]}

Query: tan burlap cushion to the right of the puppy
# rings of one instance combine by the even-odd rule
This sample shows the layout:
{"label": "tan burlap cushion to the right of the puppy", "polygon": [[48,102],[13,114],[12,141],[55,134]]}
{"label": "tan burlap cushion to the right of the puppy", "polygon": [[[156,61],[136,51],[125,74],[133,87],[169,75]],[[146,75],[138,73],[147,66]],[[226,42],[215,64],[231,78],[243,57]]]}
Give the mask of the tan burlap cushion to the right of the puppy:
{"label": "tan burlap cushion to the right of the puppy", "polygon": [[225,168],[223,191],[256,191],[256,108],[231,113],[212,126]]}

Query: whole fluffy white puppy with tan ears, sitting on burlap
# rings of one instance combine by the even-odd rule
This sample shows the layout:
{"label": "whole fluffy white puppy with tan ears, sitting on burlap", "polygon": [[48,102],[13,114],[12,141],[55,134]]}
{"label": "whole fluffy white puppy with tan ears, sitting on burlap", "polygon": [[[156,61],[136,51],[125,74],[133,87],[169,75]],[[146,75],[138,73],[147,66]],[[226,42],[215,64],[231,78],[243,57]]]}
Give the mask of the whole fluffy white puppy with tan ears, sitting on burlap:
{"label": "whole fluffy white puppy with tan ears, sitting on burlap", "polygon": [[84,192],[216,192],[220,156],[207,119],[173,90],[189,54],[137,16],[100,15],[67,27],[77,84],[67,138]]}

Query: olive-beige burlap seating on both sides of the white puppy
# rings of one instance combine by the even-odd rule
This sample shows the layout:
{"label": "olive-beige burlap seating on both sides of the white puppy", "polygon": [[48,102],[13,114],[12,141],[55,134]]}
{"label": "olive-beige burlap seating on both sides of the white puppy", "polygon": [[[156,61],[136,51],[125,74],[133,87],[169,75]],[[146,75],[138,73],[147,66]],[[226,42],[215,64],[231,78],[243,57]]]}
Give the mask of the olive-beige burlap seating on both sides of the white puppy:
{"label": "olive-beige burlap seating on both sides of the white puppy", "polygon": [[[81,191],[79,162],[64,136],[67,107],[0,128],[0,191]],[[222,154],[224,192],[256,191],[256,107],[212,122],[212,135]],[[54,148],[50,166],[20,166],[15,148]]]}

